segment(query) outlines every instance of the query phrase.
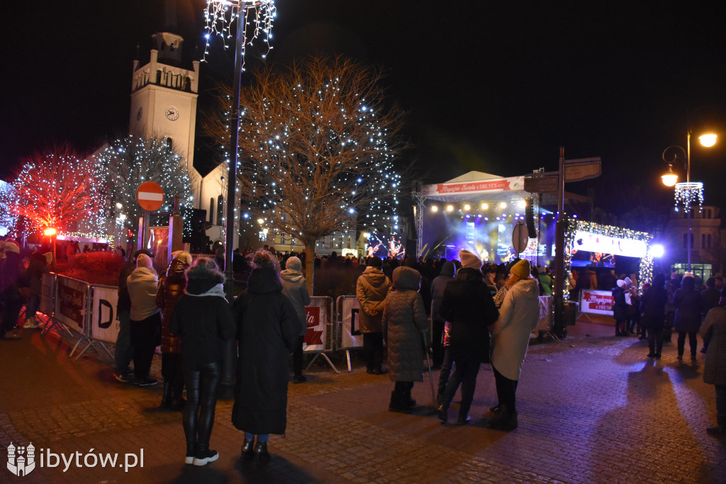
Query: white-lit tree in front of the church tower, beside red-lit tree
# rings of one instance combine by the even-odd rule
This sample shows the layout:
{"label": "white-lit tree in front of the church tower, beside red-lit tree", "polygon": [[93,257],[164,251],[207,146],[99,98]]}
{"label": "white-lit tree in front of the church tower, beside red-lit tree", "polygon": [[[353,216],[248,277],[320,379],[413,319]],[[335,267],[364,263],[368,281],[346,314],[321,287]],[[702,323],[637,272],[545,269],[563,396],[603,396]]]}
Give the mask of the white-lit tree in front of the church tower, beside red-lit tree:
{"label": "white-lit tree in front of the church tower, beside red-lit tree", "polygon": [[136,189],[144,181],[155,181],[164,191],[162,210],[171,210],[174,195],[191,206],[192,180],[184,157],[163,139],[127,136],[109,144],[95,160],[106,173],[108,206],[115,208],[116,223],[137,231],[143,209],[136,202]]}

